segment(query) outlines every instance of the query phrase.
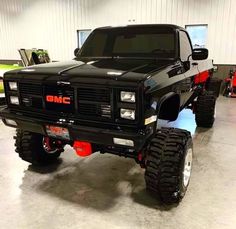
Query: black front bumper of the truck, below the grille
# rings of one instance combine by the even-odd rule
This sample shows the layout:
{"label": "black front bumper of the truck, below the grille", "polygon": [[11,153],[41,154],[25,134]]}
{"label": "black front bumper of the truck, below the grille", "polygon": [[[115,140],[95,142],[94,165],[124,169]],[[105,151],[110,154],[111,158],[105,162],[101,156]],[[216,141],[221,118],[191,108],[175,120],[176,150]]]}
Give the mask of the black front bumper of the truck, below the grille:
{"label": "black front bumper of the truck, below the grille", "polygon": [[[26,115],[21,115],[19,113],[10,112],[8,108],[5,108],[0,111],[0,116],[5,125],[12,126],[6,123],[6,119],[14,120],[17,123],[17,128],[30,131],[33,133],[39,133],[42,135],[47,135],[45,126],[54,125],[61,126],[68,129],[70,134],[70,141],[80,140],[94,143],[100,146],[113,146],[113,147],[123,147],[134,149],[136,152],[140,151],[148,138],[152,135],[152,132],[149,133],[137,133],[130,131],[121,131],[121,130],[110,130],[98,127],[88,127],[83,125],[74,125],[72,123],[64,121],[63,123],[52,122],[49,119],[43,118],[33,118]],[[113,138],[129,139],[134,142],[134,146],[123,146],[114,144]]]}

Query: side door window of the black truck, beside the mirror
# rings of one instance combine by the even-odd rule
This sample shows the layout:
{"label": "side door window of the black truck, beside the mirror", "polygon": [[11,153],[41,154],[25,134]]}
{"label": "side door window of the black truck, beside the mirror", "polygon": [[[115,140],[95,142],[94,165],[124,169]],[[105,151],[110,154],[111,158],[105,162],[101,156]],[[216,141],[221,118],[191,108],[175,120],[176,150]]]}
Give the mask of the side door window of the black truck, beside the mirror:
{"label": "side door window of the black truck, beside the mirror", "polygon": [[183,31],[179,32],[179,42],[180,42],[180,59],[186,61],[188,56],[192,54],[192,47],[187,34]]}

